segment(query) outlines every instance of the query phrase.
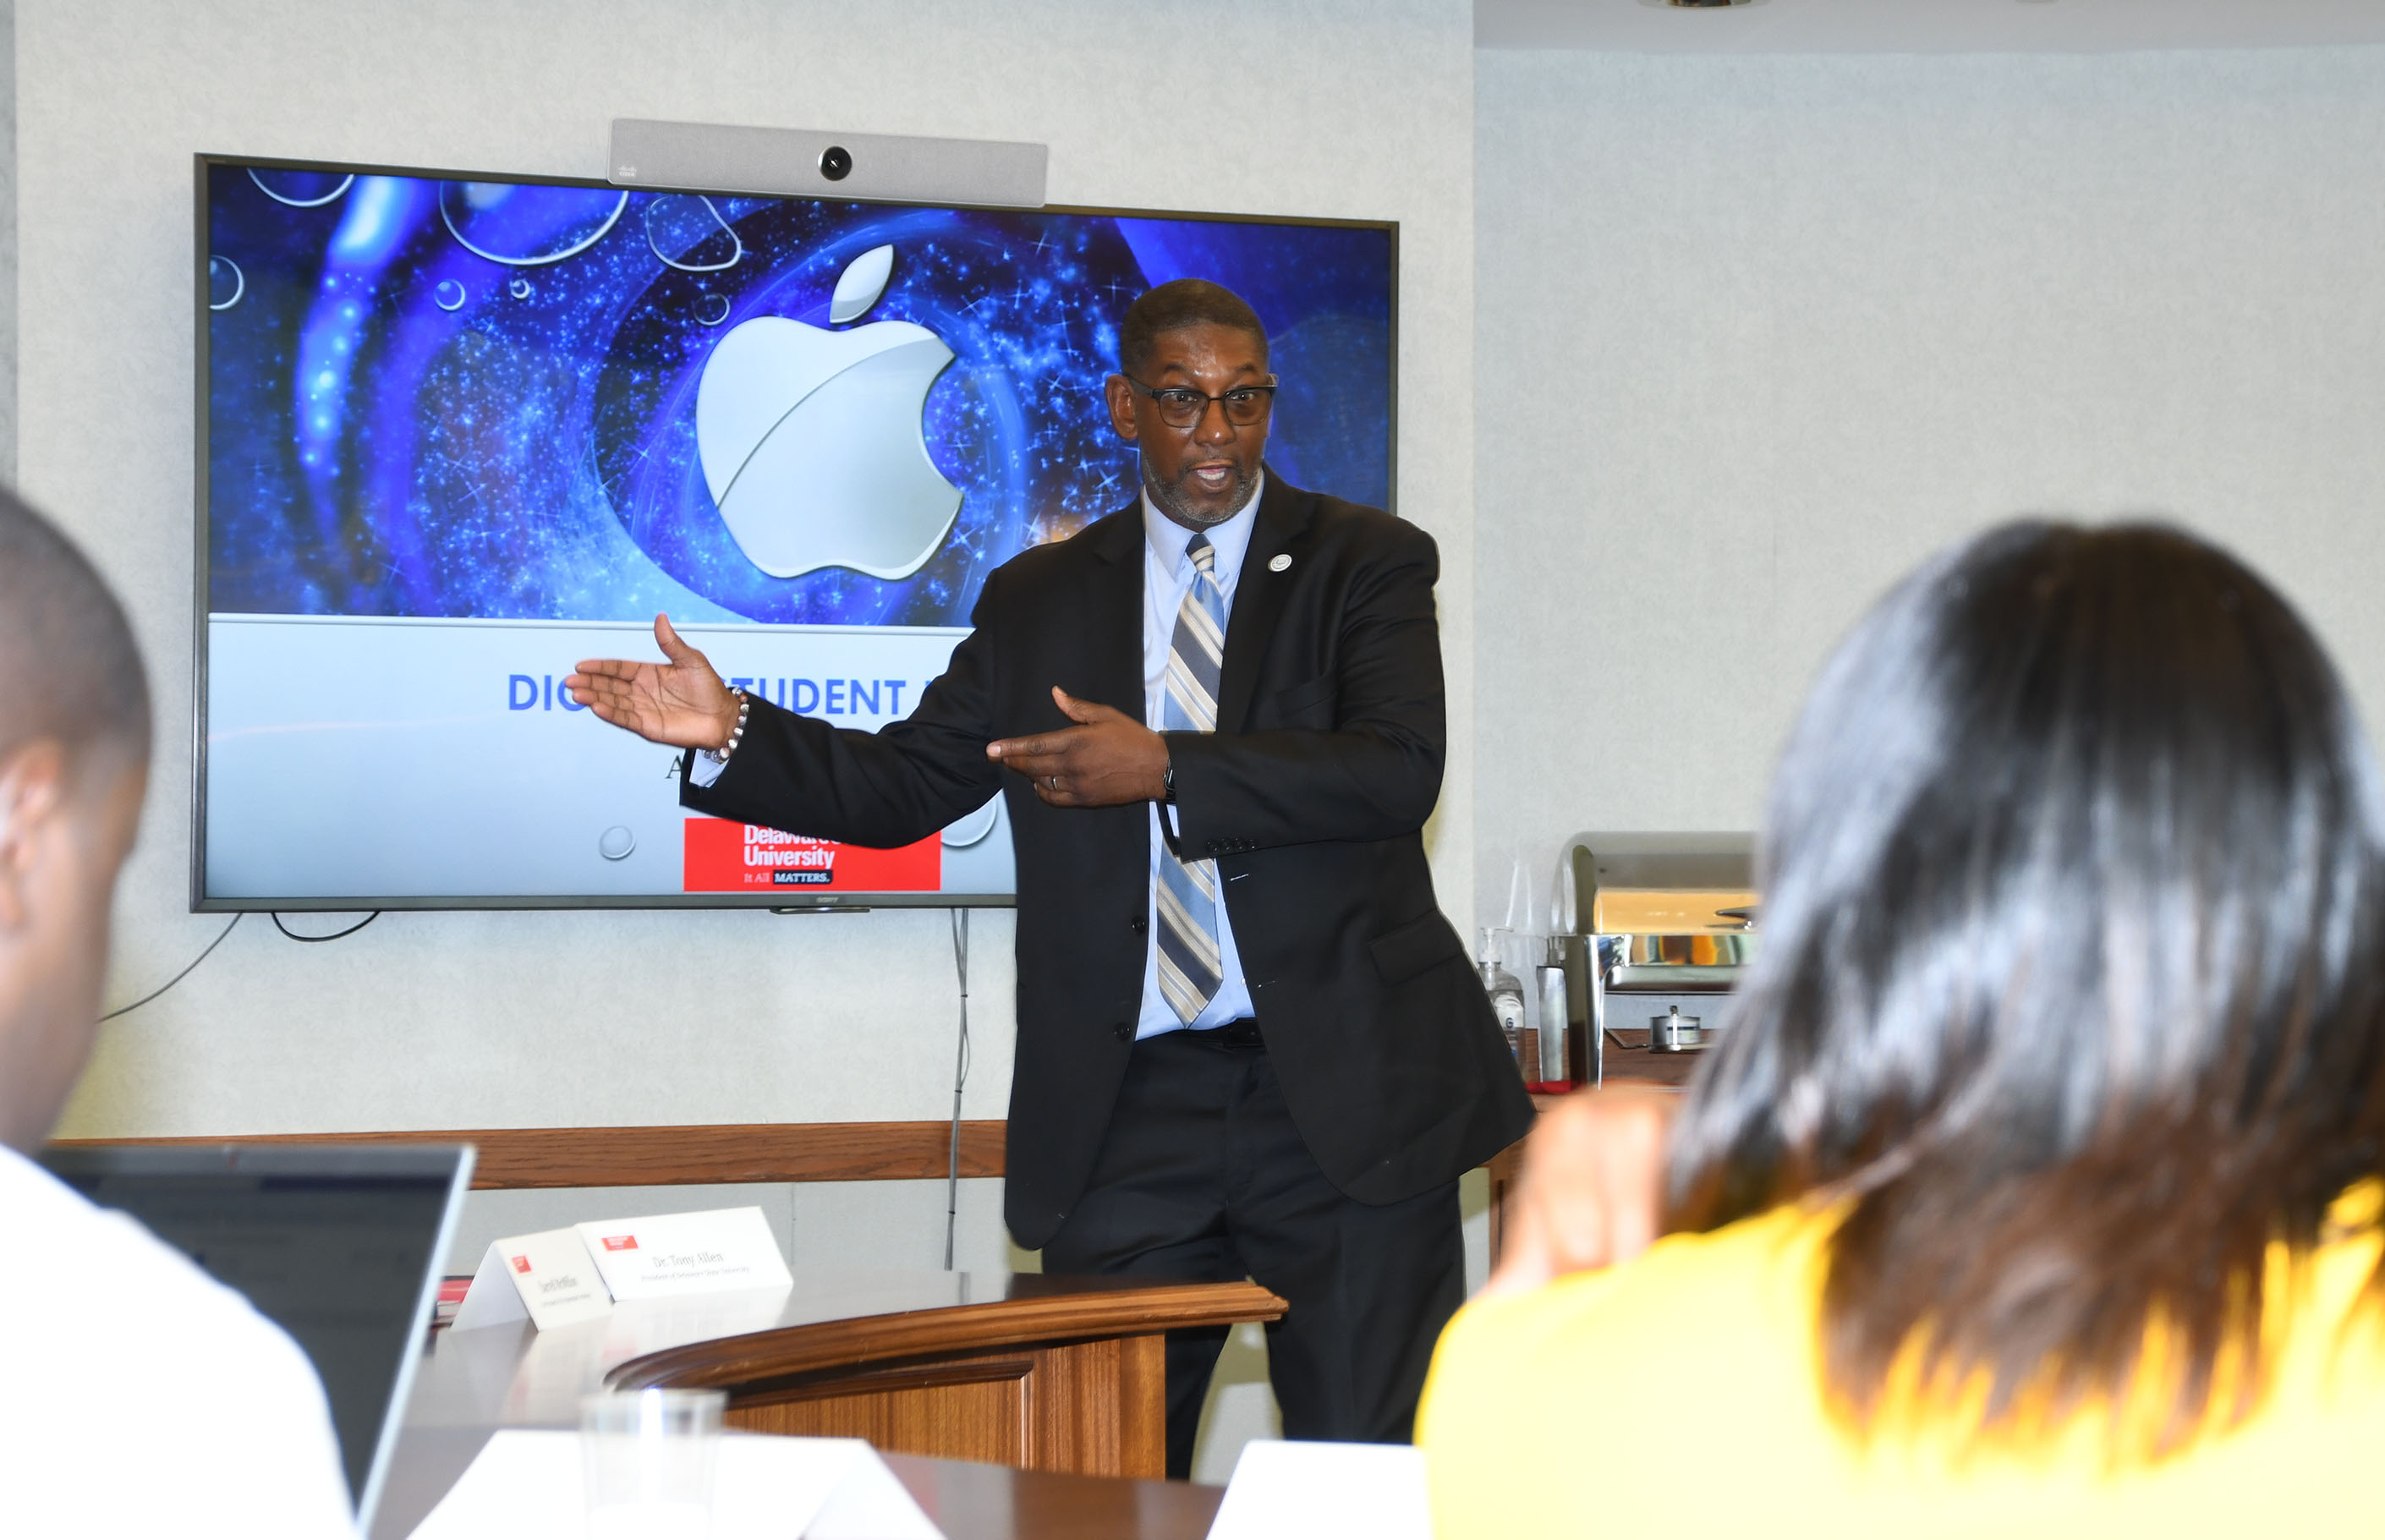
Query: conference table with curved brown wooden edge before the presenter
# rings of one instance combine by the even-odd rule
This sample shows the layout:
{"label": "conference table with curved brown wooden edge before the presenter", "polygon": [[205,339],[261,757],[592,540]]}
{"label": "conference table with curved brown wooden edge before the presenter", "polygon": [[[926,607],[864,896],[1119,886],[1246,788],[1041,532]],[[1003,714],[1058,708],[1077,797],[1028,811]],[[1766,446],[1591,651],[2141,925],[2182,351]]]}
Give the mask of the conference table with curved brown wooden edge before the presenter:
{"label": "conference table with curved brown wooden edge before the presenter", "polygon": [[844,1268],[794,1280],[787,1294],[622,1302],[546,1333],[434,1333],[374,1540],[413,1533],[498,1428],[577,1428],[589,1390],[646,1385],[727,1390],[737,1428],[871,1440],[952,1540],[1202,1535],[1216,1490],[1154,1480],[1161,1333],[1286,1309],[1255,1283]]}

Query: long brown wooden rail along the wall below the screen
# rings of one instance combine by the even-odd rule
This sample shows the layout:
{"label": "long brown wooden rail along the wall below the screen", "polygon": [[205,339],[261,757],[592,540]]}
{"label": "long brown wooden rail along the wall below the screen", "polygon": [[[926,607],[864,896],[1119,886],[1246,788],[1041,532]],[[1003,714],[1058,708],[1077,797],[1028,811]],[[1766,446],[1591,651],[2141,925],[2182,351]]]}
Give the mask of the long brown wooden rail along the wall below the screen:
{"label": "long brown wooden rail along the wall below the screen", "polygon": [[[961,1123],[961,1175],[1002,1175],[1002,1118]],[[472,1144],[475,1187],[887,1182],[942,1178],[952,1123],[680,1123],[658,1128],[422,1128],[339,1135],[57,1140],[91,1144]]]}

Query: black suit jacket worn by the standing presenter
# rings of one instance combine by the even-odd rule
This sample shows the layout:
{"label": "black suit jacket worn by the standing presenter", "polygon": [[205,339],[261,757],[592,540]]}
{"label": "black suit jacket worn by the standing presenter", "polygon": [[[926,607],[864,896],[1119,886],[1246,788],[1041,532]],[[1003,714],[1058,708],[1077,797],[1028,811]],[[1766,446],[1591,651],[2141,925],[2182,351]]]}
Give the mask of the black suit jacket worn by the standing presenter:
{"label": "black suit jacket worn by the standing presenter", "polygon": [[[1278,572],[1276,558],[1290,558]],[[1219,732],[1169,734],[1178,849],[1216,861],[1293,1120],[1345,1194],[1388,1204],[1522,1137],[1531,1101],[1424,820],[1445,744],[1431,536],[1266,477],[1226,625]],[[1018,856],[1018,1058],[1004,1218],[1040,1247],[1085,1190],[1142,1008],[1150,806],[1049,808],[985,758],[1073,696],[1142,720],[1140,501],[985,579],[909,720],[830,727],[754,701],[704,813],[866,846],[999,791]]]}

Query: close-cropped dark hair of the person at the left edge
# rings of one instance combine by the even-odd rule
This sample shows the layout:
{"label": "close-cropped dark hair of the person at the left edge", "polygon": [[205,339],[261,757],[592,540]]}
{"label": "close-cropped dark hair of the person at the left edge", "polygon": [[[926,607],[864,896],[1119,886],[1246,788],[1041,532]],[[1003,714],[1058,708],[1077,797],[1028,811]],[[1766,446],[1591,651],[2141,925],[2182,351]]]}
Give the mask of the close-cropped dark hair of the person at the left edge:
{"label": "close-cropped dark hair of the person at the left edge", "polygon": [[145,765],[148,675],[91,560],[0,491],[0,763],[41,739],[76,772],[93,760]]}

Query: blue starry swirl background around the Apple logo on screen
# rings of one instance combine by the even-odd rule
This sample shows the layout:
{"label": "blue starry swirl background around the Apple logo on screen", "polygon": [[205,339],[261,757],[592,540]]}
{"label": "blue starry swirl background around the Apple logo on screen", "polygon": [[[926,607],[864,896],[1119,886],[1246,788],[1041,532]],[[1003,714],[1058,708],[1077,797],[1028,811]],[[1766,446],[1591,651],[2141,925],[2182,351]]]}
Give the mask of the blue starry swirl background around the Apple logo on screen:
{"label": "blue starry swirl background around the Apple logo on screen", "polygon": [[[537,184],[210,172],[210,613],[968,625],[985,575],[1126,505],[1116,327],[1209,277],[1266,322],[1269,465],[1390,493],[1381,229],[696,198]],[[837,274],[956,355],[925,398],[961,489],[923,567],[770,577],[696,455],[711,348],[754,317],[830,327]]]}

